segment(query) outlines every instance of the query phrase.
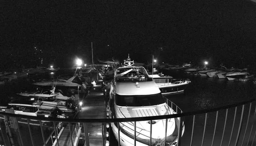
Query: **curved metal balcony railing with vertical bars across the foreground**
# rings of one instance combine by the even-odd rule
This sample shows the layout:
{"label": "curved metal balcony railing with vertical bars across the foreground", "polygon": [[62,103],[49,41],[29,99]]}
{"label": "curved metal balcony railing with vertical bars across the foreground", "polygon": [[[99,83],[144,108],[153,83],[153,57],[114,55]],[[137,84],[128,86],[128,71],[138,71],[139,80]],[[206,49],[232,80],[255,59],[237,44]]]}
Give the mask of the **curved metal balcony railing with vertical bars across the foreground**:
{"label": "curved metal balcony railing with vertical bars across the foreground", "polygon": [[[134,118],[118,118],[118,119],[60,119],[60,118],[45,118],[45,117],[33,117],[25,115],[15,115],[11,113],[0,113],[4,119],[0,119],[0,128],[1,128],[1,138],[0,145],[4,146],[14,146],[14,145],[51,145],[47,143],[48,136],[52,136],[56,139],[56,145],[62,146],[58,135],[60,132],[55,123],[69,123],[69,138],[71,139],[72,144],[74,145],[74,139],[77,137],[77,128],[81,130],[81,133],[84,134],[83,140],[85,140],[84,145],[89,146],[94,142],[94,135],[89,136],[89,131],[91,127],[88,126],[88,123],[100,123],[101,125],[101,134],[100,138],[102,140],[101,145],[114,145],[112,136],[110,133],[111,123],[117,122],[118,129],[120,128],[120,122],[134,122],[134,134],[136,135],[136,122],[137,121],[150,121],[150,144],[153,145],[152,139],[152,121],[158,119],[171,119],[179,118],[180,122],[177,125],[178,128],[178,137],[177,143],[172,146],[252,146],[255,144],[254,140],[256,137],[256,125],[255,125],[255,115],[256,115],[256,102],[255,100],[245,101],[241,103],[236,103],[233,105],[228,105],[225,107],[217,107],[214,109],[206,109],[202,111],[191,111],[183,113],[181,109],[177,107],[174,103],[167,99],[168,104],[176,111],[177,114],[173,115],[160,115],[152,117],[134,117]],[[170,103],[171,102],[171,103]],[[10,118],[14,119],[27,119],[27,124],[24,123],[11,123]],[[186,119],[186,120],[184,120]],[[46,122],[42,122],[46,121]],[[182,126],[183,121],[185,124],[185,132],[182,136]],[[38,125],[31,125],[32,122],[39,123],[37,128],[37,136],[34,134],[34,127]],[[71,128],[70,123],[75,123],[75,129]],[[17,124],[16,129],[12,125]],[[137,123],[138,124],[138,123]],[[166,122],[167,124],[167,122]],[[166,145],[167,138],[167,125],[165,125],[165,138],[164,141],[154,143],[154,145]],[[15,129],[15,130],[13,130]],[[71,130],[74,131],[71,131]],[[39,131],[38,131],[39,130]],[[14,131],[14,132],[12,132]],[[53,132],[51,134],[51,132]],[[73,132],[73,133],[72,133]],[[76,135],[76,137],[74,136]],[[120,142],[120,130],[118,130],[117,144]],[[41,137],[40,137],[41,136]],[[181,137],[182,136],[182,137]],[[26,138],[27,140],[25,140]],[[111,139],[112,138],[112,139]],[[30,140],[29,140],[30,139]],[[80,137],[78,138],[80,139]],[[115,139],[115,138],[114,138]],[[81,139],[80,139],[81,140]],[[131,145],[136,145],[137,139],[134,136],[134,142]],[[25,144],[25,141],[29,141]],[[54,139],[52,142],[55,141]]]}

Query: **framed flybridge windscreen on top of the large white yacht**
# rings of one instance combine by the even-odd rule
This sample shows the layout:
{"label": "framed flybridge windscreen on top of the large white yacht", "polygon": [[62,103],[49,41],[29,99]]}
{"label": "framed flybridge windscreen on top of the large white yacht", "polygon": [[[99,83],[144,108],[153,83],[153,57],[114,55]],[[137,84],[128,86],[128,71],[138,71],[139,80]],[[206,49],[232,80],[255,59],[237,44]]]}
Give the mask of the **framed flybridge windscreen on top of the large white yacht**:
{"label": "framed flybridge windscreen on top of the large white yacht", "polygon": [[116,71],[116,79],[117,82],[152,81],[152,78],[148,77],[146,70],[140,67],[118,68]]}

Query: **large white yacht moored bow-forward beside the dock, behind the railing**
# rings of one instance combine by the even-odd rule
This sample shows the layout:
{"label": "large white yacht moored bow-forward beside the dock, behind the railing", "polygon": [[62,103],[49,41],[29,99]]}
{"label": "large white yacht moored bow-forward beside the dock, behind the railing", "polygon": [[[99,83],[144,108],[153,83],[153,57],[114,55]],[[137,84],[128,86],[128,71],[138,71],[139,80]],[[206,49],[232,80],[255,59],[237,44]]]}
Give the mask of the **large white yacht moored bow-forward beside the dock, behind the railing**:
{"label": "large white yacht moored bow-forward beside the dock, behind the railing", "polygon": [[[131,65],[132,63],[129,63]],[[110,87],[108,102],[110,118],[148,117],[157,115],[171,115],[176,112],[165,103],[158,86],[148,76],[144,67],[123,66],[114,72],[114,81]],[[175,146],[178,136],[180,118],[167,120],[167,145]],[[111,123],[112,131],[117,140],[118,123]],[[148,146],[165,140],[165,119],[152,121],[152,143],[150,144],[150,121],[137,121],[134,135],[134,122],[121,122],[121,146]],[[185,130],[183,125],[182,134]]]}

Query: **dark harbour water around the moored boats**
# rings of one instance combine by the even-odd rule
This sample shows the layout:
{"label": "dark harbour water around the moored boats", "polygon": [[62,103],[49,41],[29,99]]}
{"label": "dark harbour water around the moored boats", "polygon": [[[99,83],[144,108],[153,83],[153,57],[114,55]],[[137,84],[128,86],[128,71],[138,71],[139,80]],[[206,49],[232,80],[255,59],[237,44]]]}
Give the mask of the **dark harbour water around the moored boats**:
{"label": "dark harbour water around the moored boats", "polygon": [[[65,71],[59,71],[54,75],[62,76],[62,74],[66,74]],[[186,88],[184,93],[179,94],[173,94],[173,95],[166,95],[168,99],[173,101],[176,105],[178,105],[183,112],[190,112],[190,111],[198,111],[202,109],[209,109],[214,107],[222,107],[225,105],[231,105],[233,103],[239,103],[242,101],[248,101],[250,99],[255,98],[255,88],[256,86],[252,82],[239,82],[239,81],[228,81],[227,79],[218,79],[218,78],[207,78],[202,76],[191,76],[184,74],[182,72],[164,72],[166,75],[171,75],[175,78],[189,78],[191,80],[191,83]],[[71,74],[73,76],[73,73]],[[51,75],[47,75],[48,77],[51,77]],[[47,77],[45,76],[45,77]],[[37,78],[40,78],[40,76]],[[31,85],[31,80],[19,79],[13,82],[8,82],[5,86],[0,87],[0,97],[1,97],[1,104],[2,103],[8,103],[8,100],[10,97],[15,96],[16,93],[29,90],[33,88]],[[254,114],[256,105],[252,105],[252,111],[250,113],[251,117]],[[249,105],[245,106],[244,110],[244,117],[245,121],[247,121],[249,112]],[[223,140],[223,146],[228,145],[230,135],[231,135],[231,129],[233,125],[233,119],[235,108],[232,108],[229,110],[228,118],[227,118],[227,125],[226,125],[226,131],[224,134],[224,140]],[[225,121],[225,114],[226,110],[219,111],[219,118],[217,121],[217,128],[216,128],[216,136],[214,138],[214,146],[219,146],[223,134],[223,128],[224,128],[224,121]],[[235,138],[238,131],[239,126],[239,120],[241,117],[241,106],[237,108],[236,113],[236,120],[235,120],[235,128],[233,131],[233,136],[231,137],[231,144],[234,144]],[[208,113],[208,118],[206,122],[206,134],[204,137],[204,146],[208,146],[212,142],[212,136],[213,136],[213,130],[214,130],[214,124],[215,124],[215,117],[216,112]],[[191,131],[192,131],[192,123],[193,123],[193,116],[187,116],[185,117],[185,132],[182,137],[182,146],[187,146],[190,144],[191,139]],[[194,135],[193,135],[193,146],[201,145],[202,142],[202,136],[204,132],[204,122],[205,122],[205,114],[196,115],[195,117],[195,125],[194,125]],[[254,120],[250,118],[250,122],[248,127],[252,127],[254,124]],[[246,122],[243,123],[242,132],[245,131],[245,125]],[[255,127],[255,125],[254,125]],[[37,133],[38,137],[42,137],[41,131],[36,132],[38,130],[38,127],[35,128],[35,133]],[[27,130],[24,130],[27,131]],[[47,131],[46,131],[47,132]],[[247,130],[247,133],[250,132],[250,130]],[[41,136],[40,136],[41,134]],[[252,137],[255,134],[255,128],[252,132]],[[36,135],[36,134],[35,134]],[[29,136],[29,135],[27,135]],[[241,139],[243,139],[243,134]],[[246,143],[250,142],[252,143],[252,138],[248,140],[249,134],[246,135]],[[113,135],[112,135],[113,137]],[[41,138],[42,139],[42,138]],[[240,140],[241,140],[240,139]],[[239,141],[240,142],[240,141]],[[39,142],[42,144],[42,140]],[[51,143],[51,142],[50,142]],[[2,139],[1,139],[1,144]],[[110,141],[111,144],[111,141]],[[112,142],[112,145],[115,145],[116,142]]]}

